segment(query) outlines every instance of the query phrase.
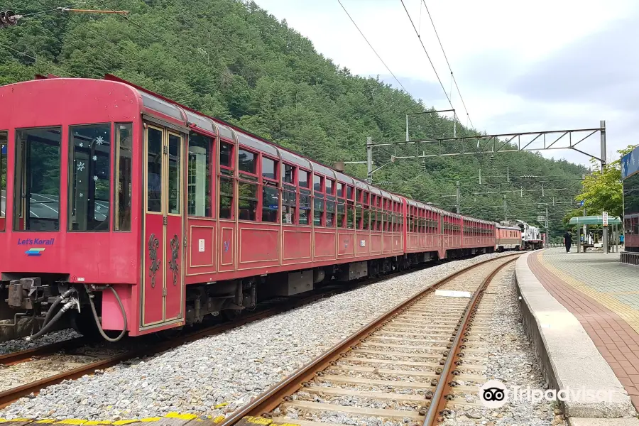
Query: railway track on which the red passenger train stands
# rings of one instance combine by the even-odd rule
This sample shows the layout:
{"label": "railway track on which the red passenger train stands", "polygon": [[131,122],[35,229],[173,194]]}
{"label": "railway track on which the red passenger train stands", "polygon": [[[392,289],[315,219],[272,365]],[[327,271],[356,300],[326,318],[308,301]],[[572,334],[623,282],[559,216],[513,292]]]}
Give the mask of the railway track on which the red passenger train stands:
{"label": "railway track on which the red passenger train stands", "polygon": [[[360,288],[364,285],[376,283],[380,280],[388,280],[395,276],[403,275],[404,273],[414,272],[420,268],[428,268],[437,264],[438,262],[427,263],[424,266],[420,266],[418,268],[413,268],[397,273],[391,273],[378,278],[371,278],[360,283],[352,283],[346,285],[329,285],[324,288],[315,290],[311,295],[300,296],[297,298],[288,298],[285,301],[275,300],[273,302],[267,302],[265,305],[263,305],[263,307],[258,307],[256,311],[251,312],[251,314],[243,315],[236,320],[232,320],[222,324],[215,324],[211,327],[204,327],[202,329],[198,329],[195,332],[183,334],[179,337],[176,337],[175,339],[171,339],[168,342],[154,342],[152,344],[149,344],[147,341],[142,346],[136,345],[135,349],[121,350],[118,351],[116,354],[113,354],[112,356],[93,356],[95,361],[92,362],[82,363],[78,362],[77,359],[66,361],[62,357],[62,354],[60,354],[60,352],[67,352],[67,354],[65,355],[68,355],[70,357],[77,356],[77,354],[82,354],[82,347],[87,346],[87,344],[91,342],[90,339],[86,339],[84,337],[68,339],[62,342],[39,346],[37,348],[27,349],[24,351],[16,351],[9,354],[3,354],[0,355],[0,366],[3,367],[14,366],[16,364],[22,363],[31,364],[31,362],[42,361],[44,359],[47,359],[47,357],[49,356],[58,355],[60,356],[58,356],[55,361],[60,364],[67,364],[67,367],[60,368],[64,369],[64,371],[60,371],[60,373],[56,373],[50,376],[44,376],[43,378],[40,378],[38,380],[30,381],[28,383],[21,383],[19,386],[13,386],[4,390],[2,389],[0,383],[0,408],[5,408],[7,405],[10,405],[11,403],[24,396],[32,394],[36,395],[43,388],[61,383],[65,380],[75,380],[87,374],[93,374],[95,371],[102,371],[105,368],[115,366],[131,359],[152,356],[153,354],[158,354],[162,351],[172,349],[187,342],[193,342],[197,339],[202,339],[203,337],[219,334],[229,329],[233,329],[234,327],[239,327],[256,320],[261,320],[262,318],[269,317],[271,315],[277,315],[280,312],[295,309],[296,307],[315,302],[316,300],[320,300],[324,297],[329,297],[337,293],[344,293],[346,291],[354,290],[355,288]],[[126,343],[126,340],[123,341],[123,343]],[[141,343],[141,341],[138,341],[137,343]],[[85,357],[85,359],[88,358],[89,357]],[[37,364],[33,364],[33,366],[35,368],[38,368]],[[28,366],[25,365],[24,367]]]}

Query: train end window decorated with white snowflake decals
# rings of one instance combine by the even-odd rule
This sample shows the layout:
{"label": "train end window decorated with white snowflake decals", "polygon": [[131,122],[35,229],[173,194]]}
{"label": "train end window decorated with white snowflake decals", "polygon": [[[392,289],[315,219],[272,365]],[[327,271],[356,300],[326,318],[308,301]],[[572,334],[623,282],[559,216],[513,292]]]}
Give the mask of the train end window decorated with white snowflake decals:
{"label": "train end window decorated with white snowflake decals", "polygon": [[69,128],[69,231],[109,231],[111,124]]}

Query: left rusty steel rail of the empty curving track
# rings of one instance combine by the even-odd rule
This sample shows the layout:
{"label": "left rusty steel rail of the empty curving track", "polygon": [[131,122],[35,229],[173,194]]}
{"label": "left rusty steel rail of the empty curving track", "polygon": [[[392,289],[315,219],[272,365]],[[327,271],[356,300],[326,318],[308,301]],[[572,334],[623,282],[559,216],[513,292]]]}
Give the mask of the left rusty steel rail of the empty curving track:
{"label": "left rusty steel rail of the empty curving track", "polygon": [[[400,315],[400,313],[405,310],[405,308],[409,307],[414,302],[427,295],[427,293],[430,293],[432,290],[435,290],[435,288],[448,283],[450,280],[457,278],[459,275],[466,273],[471,269],[477,268],[478,266],[484,265],[485,263],[497,261],[498,259],[504,257],[517,256],[519,254],[520,253],[515,252],[506,254],[505,256],[500,256],[498,258],[486,259],[485,261],[474,263],[474,265],[466,266],[466,268],[462,268],[459,271],[442,278],[441,280],[437,281],[437,283],[429,285],[427,288],[422,289],[419,293],[416,293],[403,302],[400,302],[398,305],[395,305],[395,307],[393,307],[385,314],[364,325],[364,327],[358,329],[356,332],[354,332],[354,334],[351,334],[351,336],[346,337],[346,339],[338,342],[330,349],[325,351],[322,355],[318,356],[313,361],[310,361],[310,363],[306,364],[305,366],[302,366],[302,368],[293,373],[293,375],[288,376],[288,378],[283,379],[283,381],[280,381],[261,395],[258,395],[258,398],[253,400],[253,402],[244,405],[243,408],[237,410],[229,417],[226,417],[226,419],[220,422],[217,426],[233,426],[241,422],[244,417],[260,417],[263,414],[270,413],[272,410],[275,410],[278,405],[283,403],[286,397],[298,391],[303,386],[303,383],[312,379],[315,376],[315,373],[331,366],[334,361],[337,361],[337,359],[344,356],[344,354],[353,346],[364,342],[364,340],[368,336],[378,331],[378,329],[381,328],[381,324],[388,322],[388,320],[393,319],[393,317]],[[510,263],[510,261],[506,263]],[[461,329],[461,327],[459,328]],[[452,353],[452,349],[450,353]],[[295,423],[295,421],[293,421],[293,423]]]}

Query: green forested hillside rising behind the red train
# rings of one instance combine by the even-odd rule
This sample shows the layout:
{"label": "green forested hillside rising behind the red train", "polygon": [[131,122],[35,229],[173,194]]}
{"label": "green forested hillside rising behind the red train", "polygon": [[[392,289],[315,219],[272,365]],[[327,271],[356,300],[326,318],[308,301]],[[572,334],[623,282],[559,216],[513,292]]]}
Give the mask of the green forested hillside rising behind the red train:
{"label": "green forested hillside rising behind the red train", "polygon": [[[68,5],[46,0],[6,4],[21,14],[54,10],[0,31],[0,84],[30,80],[35,73],[101,77],[110,72],[327,165],[364,160],[367,136],[373,141],[403,140],[405,114],[432,107],[429,99],[413,99],[381,80],[352,75],[253,2],[76,4],[83,9],[131,11],[129,18],[55,11],[56,6]],[[449,119],[432,116],[418,124],[413,138],[452,136]],[[476,132],[457,124],[457,134]],[[376,151],[376,166],[389,156],[390,152]],[[564,161],[508,153],[398,160],[376,173],[374,181],[452,209],[454,197],[442,195],[455,194],[455,180],[476,182],[479,168],[485,175],[505,175],[506,167],[511,176],[584,173]],[[366,177],[365,165],[347,165],[346,172]],[[537,204],[523,204],[535,202],[531,194],[508,195],[508,217],[536,218],[541,211]],[[501,194],[464,196],[461,205],[464,213],[493,220],[503,219],[503,207],[498,206],[503,206]],[[551,208],[557,211],[557,224],[560,209],[567,207]]]}

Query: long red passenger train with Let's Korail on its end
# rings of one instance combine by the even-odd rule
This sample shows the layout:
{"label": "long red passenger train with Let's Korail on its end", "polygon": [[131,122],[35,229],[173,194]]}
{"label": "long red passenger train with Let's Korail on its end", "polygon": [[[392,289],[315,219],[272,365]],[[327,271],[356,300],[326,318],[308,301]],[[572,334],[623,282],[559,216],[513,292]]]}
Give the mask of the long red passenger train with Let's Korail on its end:
{"label": "long red passenger train with Let's Korail on its end", "polygon": [[140,336],[496,249],[494,222],[367,185],[111,75],[0,87],[0,145],[0,339],[68,324]]}

